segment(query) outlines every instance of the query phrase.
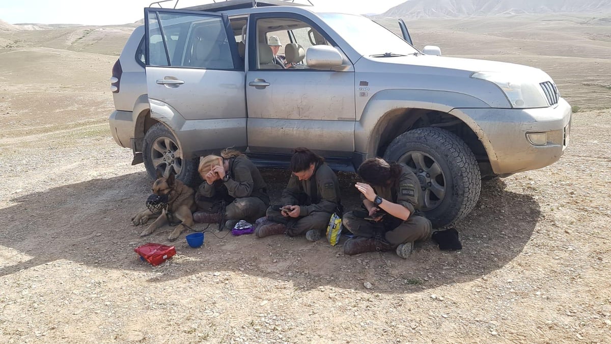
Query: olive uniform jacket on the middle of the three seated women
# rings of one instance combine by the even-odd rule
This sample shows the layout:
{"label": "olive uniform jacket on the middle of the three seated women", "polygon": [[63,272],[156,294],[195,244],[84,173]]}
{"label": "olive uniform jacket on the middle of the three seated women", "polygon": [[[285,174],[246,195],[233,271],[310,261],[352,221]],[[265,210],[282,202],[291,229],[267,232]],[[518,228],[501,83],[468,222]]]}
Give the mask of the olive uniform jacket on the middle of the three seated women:
{"label": "olive uniform jacket on the middle of the three seated women", "polygon": [[[282,205],[299,205],[299,214],[307,216],[312,212],[327,212],[329,215],[335,212],[340,204],[340,187],[337,176],[326,163],[315,167],[315,173],[307,181],[299,181],[295,174],[291,174],[287,189],[282,191]],[[316,195],[312,200],[312,182],[316,180]],[[307,200],[299,196],[305,193]]]}

